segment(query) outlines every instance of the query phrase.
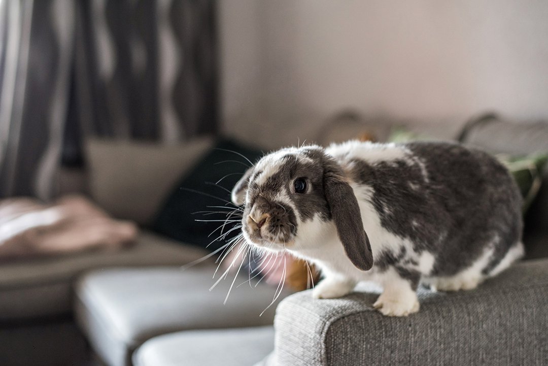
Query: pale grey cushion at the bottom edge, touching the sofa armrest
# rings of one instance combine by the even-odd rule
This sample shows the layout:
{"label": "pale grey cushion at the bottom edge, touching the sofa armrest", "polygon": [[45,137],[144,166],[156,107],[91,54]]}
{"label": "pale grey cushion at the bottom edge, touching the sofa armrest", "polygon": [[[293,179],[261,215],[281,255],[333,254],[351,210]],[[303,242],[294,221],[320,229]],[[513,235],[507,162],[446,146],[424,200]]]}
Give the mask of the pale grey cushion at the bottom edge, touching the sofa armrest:
{"label": "pale grey cushion at the bottom edge, touching the sofa armrest", "polygon": [[195,330],[146,341],[133,355],[135,366],[252,366],[274,348],[272,326]]}

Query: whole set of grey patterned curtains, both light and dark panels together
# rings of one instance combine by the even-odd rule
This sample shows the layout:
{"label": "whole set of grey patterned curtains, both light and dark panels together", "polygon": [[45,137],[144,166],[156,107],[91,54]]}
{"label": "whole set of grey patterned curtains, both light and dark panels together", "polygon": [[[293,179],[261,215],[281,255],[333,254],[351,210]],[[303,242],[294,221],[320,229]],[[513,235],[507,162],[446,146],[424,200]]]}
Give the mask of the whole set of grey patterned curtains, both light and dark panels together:
{"label": "whole set of grey patterned curtains, both light and dark panels together", "polygon": [[217,127],[213,0],[0,0],[0,198],[48,199],[83,136]]}

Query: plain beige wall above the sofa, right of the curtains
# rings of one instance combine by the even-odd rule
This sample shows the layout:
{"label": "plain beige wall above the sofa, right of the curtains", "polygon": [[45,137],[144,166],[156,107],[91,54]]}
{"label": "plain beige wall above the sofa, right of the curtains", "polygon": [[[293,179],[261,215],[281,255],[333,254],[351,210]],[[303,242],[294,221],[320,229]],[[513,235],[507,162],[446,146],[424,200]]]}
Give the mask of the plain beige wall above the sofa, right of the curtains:
{"label": "plain beige wall above the sofa, right of the curtains", "polygon": [[225,128],[242,138],[305,138],[349,106],[548,116],[546,1],[223,0],[219,30]]}

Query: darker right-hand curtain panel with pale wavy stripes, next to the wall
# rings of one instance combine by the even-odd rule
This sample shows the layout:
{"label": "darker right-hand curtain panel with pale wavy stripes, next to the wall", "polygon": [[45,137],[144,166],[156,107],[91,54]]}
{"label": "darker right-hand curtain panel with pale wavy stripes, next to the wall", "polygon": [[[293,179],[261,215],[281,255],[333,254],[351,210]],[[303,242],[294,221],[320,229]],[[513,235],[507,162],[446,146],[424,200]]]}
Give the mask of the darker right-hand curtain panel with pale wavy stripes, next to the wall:
{"label": "darker right-hand curtain panel with pale wavy stripes, next to the wall", "polygon": [[179,141],[216,128],[213,1],[81,0],[76,80],[90,134]]}

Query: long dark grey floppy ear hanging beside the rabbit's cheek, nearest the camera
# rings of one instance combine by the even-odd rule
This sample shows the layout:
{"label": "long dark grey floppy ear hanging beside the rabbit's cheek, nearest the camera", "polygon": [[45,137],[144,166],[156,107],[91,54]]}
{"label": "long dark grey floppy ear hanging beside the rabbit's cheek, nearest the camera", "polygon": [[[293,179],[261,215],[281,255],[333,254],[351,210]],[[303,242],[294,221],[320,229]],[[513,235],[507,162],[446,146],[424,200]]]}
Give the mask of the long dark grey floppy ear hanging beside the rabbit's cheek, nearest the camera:
{"label": "long dark grey floppy ear hanging beside the rabbit's cheek, nearest the camera", "polygon": [[373,253],[352,187],[340,174],[327,172],[324,192],[346,255],[360,270],[369,270],[373,266]]}

